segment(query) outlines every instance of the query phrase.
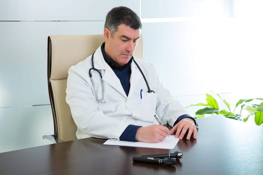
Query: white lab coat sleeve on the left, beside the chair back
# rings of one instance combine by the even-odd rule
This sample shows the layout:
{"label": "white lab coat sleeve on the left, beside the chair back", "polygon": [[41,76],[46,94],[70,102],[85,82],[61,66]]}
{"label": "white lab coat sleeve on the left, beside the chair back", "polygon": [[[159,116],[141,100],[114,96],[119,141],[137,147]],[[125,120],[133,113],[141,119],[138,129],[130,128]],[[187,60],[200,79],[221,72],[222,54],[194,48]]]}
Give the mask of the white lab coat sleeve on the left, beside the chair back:
{"label": "white lab coat sleeve on the left, beside the chair back", "polygon": [[119,139],[128,123],[106,116],[98,110],[98,102],[93,94],[87,67],[89,67],[87,59],[71,66],[67,81],[66,101],[78,126],[76,135],[78,138]]}

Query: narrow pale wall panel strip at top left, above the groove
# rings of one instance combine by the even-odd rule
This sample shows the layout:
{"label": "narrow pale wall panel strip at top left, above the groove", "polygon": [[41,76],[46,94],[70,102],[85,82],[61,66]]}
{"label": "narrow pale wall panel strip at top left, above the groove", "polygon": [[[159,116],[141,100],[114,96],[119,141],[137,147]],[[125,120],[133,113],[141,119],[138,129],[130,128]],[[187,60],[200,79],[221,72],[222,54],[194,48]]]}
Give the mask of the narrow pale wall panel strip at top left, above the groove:
{"label": "narrow pale wall panel strip at top left, above the groove", "polygon": [[139,12],[139,0],[1,0],[0,20],[105,20],[119,5]]}

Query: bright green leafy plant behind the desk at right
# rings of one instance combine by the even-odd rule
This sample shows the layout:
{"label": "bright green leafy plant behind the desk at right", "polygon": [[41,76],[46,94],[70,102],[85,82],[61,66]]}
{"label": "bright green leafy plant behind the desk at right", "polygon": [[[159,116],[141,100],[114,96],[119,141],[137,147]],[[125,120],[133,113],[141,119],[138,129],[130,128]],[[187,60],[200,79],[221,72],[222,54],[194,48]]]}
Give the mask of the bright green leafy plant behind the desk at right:
{"label": "bright green leafy plant behind the desk at right", "polygon": [[[218,96],[219,99],[222,100],[226,109],[219,107],[218,102],[213,95]],[[263,98],[239,99],[235,104],[234,109],[231,110],[229,103],[218,93],[206,93],[206,103],[199,102],[197,104],[190,104],[187,108],[192,106],[203,107],[195,112],[195,118],[202,118],[207,115],[216,114],[236,120],[247,121],[250,116],[254,116],[255,124],[263,125]]]}

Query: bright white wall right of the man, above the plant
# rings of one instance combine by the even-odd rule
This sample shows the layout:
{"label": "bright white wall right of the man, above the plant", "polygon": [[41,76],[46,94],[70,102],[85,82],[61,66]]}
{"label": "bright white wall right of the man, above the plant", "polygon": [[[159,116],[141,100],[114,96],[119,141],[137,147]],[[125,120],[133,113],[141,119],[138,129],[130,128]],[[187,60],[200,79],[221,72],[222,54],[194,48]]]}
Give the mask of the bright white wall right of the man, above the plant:
{"label": "bright white wall right of the man, above the plant", "polygon": [[142,0],[144,59],[184,105],[205,102],[210,90],[232,108],[262,97],[262,7],[259,0]]}

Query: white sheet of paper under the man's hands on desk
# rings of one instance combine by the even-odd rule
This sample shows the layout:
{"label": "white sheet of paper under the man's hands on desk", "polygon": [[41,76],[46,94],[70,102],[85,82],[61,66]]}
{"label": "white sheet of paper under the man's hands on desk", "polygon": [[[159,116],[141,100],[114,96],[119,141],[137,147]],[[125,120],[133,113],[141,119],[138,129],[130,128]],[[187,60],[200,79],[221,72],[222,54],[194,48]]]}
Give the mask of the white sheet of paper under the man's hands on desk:
{"label": "white sheet of paper under the man's hands on desk", "polygon": [[167,136],[164,140],[158,143],[145,143],[140,141],[123,141],[116,139],[108,139],[103,144],[107,145],[119,145],[119,146],[132,146],[132,147],[150,147],[150,148],[161,148],[161,149],[173,149],[179,138],[175,138],[174,135]]}

